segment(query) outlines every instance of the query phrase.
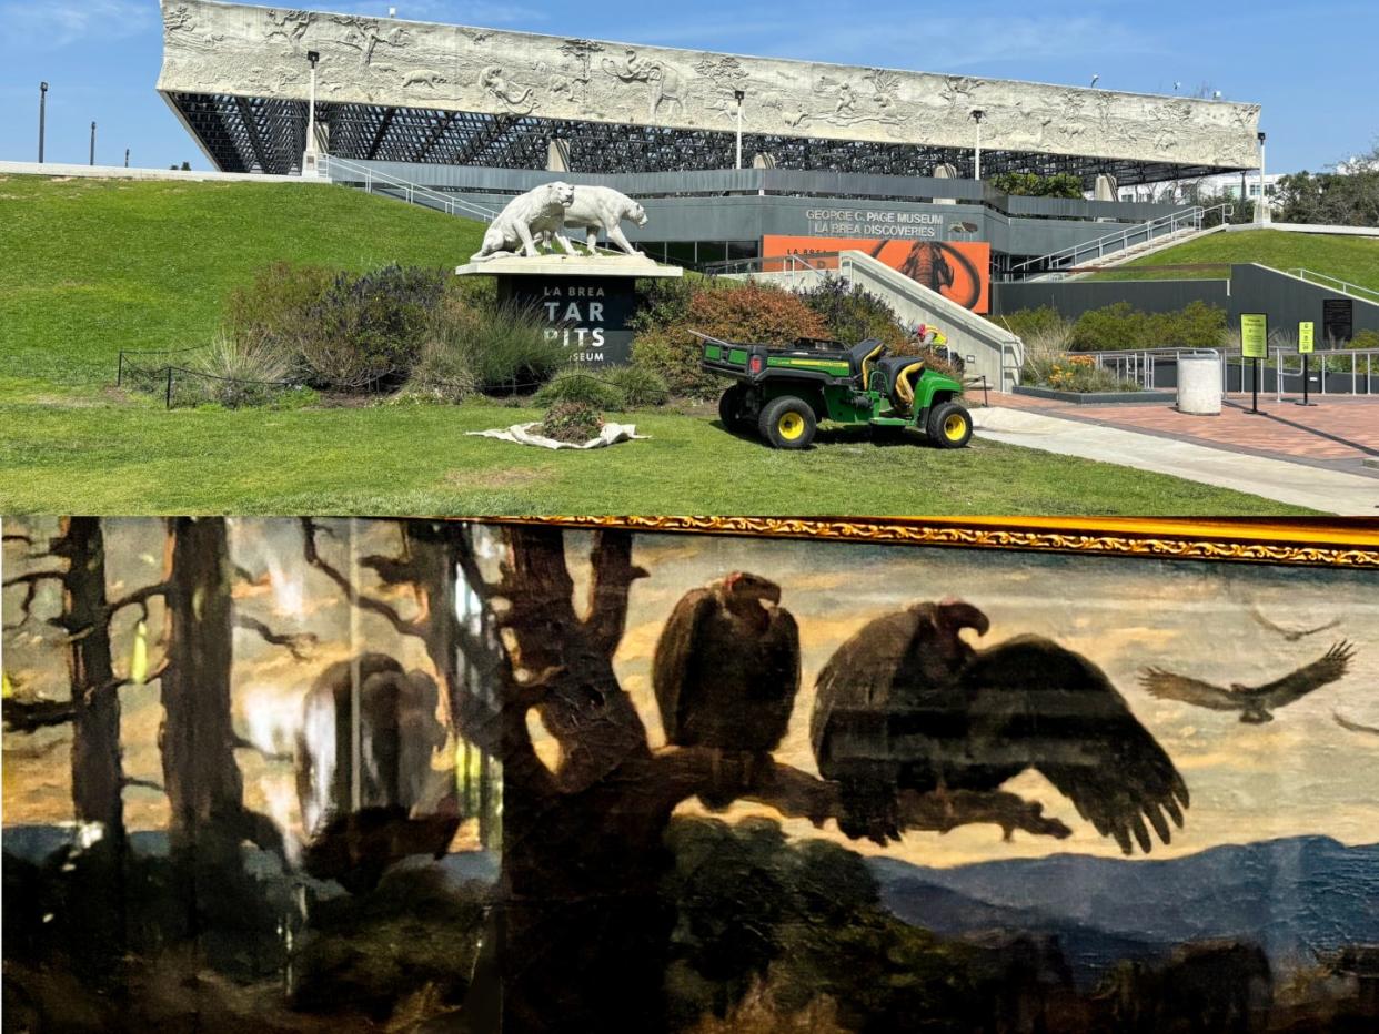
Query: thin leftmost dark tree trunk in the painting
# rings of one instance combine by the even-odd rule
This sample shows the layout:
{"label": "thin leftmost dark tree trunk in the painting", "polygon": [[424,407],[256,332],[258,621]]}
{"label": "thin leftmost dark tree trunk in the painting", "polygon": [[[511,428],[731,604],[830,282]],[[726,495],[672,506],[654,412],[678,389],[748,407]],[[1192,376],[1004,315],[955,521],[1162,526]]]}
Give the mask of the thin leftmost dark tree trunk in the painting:
{"label": "thin leftmost dark tree trunk in the painting", "polygon": [[99,823],[105,838],[119,844],[124,840],[120,693],[110,665],[101,520],[63,517],[52,551],[68,560],[61,620],[72,636],[72,807],[79,823]]}

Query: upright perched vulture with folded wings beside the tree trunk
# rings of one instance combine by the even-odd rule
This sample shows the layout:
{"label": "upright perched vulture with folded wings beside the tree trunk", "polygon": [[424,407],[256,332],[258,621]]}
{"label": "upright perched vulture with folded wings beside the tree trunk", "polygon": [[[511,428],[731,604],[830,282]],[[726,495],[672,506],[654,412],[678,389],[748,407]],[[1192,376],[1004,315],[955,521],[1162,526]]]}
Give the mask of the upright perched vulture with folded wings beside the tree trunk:
{"label": "upright perched vulture with folded wings beside the tree trunk", "polygon": [[[651,676],[669,743],[752,756],[781,743],[800,691],[800,633],[779,602],[781,586],[739,571],[676,604]],[[701,800],[732,798],[724,787]]]}

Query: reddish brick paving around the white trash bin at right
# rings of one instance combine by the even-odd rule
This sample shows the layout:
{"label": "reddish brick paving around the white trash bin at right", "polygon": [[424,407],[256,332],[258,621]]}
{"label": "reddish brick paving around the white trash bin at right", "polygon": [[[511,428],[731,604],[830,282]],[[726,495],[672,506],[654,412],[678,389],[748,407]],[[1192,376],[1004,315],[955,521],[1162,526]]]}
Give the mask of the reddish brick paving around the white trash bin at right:
{"label": "reddish brick paving around the white trash bin at right", "polygon": [[1309,407],[1260,397],[1258,416],[1248,412],[1248,394],[1227,396],[1219,416],[1190,416],[1171,404],[1076,405],[994,392],[992,405],[1350,473],[1368,470],[1361,466],[1365,459],[1379,459],[1379,394],[1327,396]]}

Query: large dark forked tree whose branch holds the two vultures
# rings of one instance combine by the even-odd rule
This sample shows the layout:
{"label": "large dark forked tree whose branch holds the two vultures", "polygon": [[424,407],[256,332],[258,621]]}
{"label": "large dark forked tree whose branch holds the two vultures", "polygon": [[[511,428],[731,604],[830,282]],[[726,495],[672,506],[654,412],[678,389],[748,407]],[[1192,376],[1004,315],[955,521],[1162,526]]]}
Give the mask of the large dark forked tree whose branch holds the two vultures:
{"label": "large dark forked tree whose branch holds the two vultures", "polygon": [[[676,807],[721,791],[727,779],[742,800],[822,824],[840,813],[837,786],[781,762],[725,762],[725,772],[717,751],[650,746],[612,665],[632,586],[647,576],[632,562],[629,532],[594,536],[587,598],[576,609],[560,529],[503,529],[506,556],[490,579],[465,525],[400,527],[399,553],[363,565],[386,586],[412,586],[415,618],[360,593],[317,551],[310,521],[306,558],[356,607],[426,641],[456,731],[502,760],[501,902],[467,1022],[483,1028],[501,1009],[509,1031],[662,1028],[673,915],[659,885],[672,864],[665,837]],[[455,618],[455,571],[483,602],[494,638]],[[472,671],[462,673],[459,656]],[[532,711],[558,747],[553,765],[534,744]],[[1007,833],[1069,834],[1041,805],[1007,793],[909,794],[902,805],[907,829],[986,822]]]}

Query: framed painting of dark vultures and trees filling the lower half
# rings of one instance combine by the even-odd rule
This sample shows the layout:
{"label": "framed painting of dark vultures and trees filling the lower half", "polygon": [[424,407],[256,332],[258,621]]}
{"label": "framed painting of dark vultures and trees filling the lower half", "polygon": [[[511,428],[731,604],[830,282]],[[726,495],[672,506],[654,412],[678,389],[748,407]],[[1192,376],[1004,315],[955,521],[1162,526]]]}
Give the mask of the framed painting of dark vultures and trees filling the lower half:
{"label": "framed painting of dark vultures and trees filling the lower half", "polygon": [[1379,547],[1240,528],[7,520],[6,1027],[1373,1030]]}

